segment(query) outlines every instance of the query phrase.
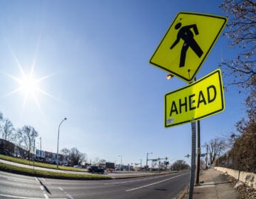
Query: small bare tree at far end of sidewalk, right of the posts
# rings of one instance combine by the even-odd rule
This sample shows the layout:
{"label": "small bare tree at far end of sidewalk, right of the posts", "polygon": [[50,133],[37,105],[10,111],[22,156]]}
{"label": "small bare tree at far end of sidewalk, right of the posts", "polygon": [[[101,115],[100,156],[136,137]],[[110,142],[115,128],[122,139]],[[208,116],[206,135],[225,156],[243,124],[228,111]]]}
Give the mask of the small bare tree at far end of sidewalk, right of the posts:
{"label": "small bare tree at far end of sidewalk, right of the posts", "polygon": [[221,138],[211,139],[208,143],[203,145],[203,147],[208,147],[210,164],[213,164],[215,159],[223,153],[226,146],[227,144],[225,143],[225,140]]}

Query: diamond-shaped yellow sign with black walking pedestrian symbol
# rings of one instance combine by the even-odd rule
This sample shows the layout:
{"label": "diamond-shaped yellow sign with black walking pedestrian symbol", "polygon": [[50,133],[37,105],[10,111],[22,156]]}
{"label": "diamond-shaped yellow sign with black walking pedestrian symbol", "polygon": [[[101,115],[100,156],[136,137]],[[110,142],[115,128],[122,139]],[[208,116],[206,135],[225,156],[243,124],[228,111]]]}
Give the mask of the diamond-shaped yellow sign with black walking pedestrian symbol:
{"label": "diamond-shaped yellow sign with black walking pedestrian symbol", "polygon": [[149,62],[192,82],[227,22],[223,16],[178,13]]}

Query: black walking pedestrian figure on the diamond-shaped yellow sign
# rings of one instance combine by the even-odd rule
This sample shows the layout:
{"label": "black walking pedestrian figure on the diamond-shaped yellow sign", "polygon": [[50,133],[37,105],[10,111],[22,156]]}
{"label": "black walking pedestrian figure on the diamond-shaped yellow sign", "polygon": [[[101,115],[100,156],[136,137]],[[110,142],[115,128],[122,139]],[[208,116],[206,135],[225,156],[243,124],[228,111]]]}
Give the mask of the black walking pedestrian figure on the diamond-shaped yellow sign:
{"label": "black walking pedestrian figure on the diamond-shaped yellow sign", "polygon": [[174,41],[174,44],[171,45],[171,49],[174,48],[181,38],[183,39],[184,43],[181,48],[181,59],[179,65],[179,67],[183,67],[186,60],[186,51],[189,47],[196,53],[196,55],[198,55],[198,58],[201,58],[203,55],[203,50],[201,50],[198,43],[196,43],[196,41],[193,39],[193,32],[190,30],[193,28],[193,31],[196,33],[196,35],[198,35],[199,33],[196,24],[181,27],[181,23],[177,23],[175,29],[178,30],[178,28],[181,29],[178,31],[177,39]]}

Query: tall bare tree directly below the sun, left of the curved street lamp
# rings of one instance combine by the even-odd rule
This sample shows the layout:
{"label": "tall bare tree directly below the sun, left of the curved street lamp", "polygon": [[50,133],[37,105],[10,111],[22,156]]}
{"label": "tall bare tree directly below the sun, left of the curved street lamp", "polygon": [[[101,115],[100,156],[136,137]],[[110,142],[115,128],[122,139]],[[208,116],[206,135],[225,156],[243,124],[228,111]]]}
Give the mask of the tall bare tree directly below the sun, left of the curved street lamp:
{"label": "tall bare tree directly below the sun, left of the curved street lamp", "polygon": [[23,149],[26,149],[28,152],[28,159],[30,160],[31,149],[33,149],[38,131],[31,126],[24,126],[22,129],[18,129],[17,134],[19,142]]}

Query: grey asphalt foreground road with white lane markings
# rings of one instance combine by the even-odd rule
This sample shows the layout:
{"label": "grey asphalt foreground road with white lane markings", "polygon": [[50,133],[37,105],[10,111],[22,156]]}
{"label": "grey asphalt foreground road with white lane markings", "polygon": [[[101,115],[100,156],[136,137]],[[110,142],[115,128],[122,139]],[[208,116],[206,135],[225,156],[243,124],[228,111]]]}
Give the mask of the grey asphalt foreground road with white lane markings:
{"label": "grey asphalt foreground road with white lane markings", "polygon": [[189,173],[171,173],[105,181],[68,181],[0,171],[0,198],[176,198],[188,185]]}

